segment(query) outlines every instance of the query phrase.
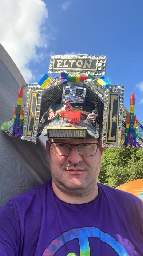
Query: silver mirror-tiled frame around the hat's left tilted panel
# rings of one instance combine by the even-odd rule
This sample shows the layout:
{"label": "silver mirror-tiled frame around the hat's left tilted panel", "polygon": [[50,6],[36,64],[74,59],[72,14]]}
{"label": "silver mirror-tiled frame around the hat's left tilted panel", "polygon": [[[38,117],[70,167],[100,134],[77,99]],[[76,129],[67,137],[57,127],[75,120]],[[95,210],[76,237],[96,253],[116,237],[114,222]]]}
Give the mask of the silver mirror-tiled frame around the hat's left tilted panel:
{"label": "silver mirror-tiled frame around the hat's left tilted panel", "polygon": [[[31,93],[36,92],[37,93],[37,104],[36,104],[36,111],[35,111],[35,126],[33,127],[34,130],[32,130],[33,135],[32,137],[27,136],[26,134],[26,128],[27,128],[27,118],[28,118],[28,112],[29,110],[29,100],[31,97]],[[42,99],[43,89],[37,84],[29,84],[28,86],[28,92],[27,92],[27,101],[24,111],[24,124],[23,124],[23,136],[21,137],[21,140],[28,140],[36,143],[37,139],[37,131],[39,126],[39,117],[40,117],[40,107],[41,107],[41,99]],[[32,112],[33,113],[33,112]],[[32,116],[31,113],[31,116]],[[34,115],[34,114],[33,114]],[[31,122],[31,120],[30,120]]]}

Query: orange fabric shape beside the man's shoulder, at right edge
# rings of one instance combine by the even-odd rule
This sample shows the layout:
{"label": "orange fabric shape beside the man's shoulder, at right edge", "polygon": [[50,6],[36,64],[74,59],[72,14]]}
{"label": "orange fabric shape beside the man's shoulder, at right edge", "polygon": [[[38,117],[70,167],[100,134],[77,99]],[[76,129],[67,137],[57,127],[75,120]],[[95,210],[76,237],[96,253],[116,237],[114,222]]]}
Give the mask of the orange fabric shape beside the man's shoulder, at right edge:
{"label": "orange fabric shape beside the man's shoulder, at right edge", "polygon": [[136,179],[123,185],[118,186],[116,189],[120,189],[131,194],[134,194],[143,201],[143,179]]}

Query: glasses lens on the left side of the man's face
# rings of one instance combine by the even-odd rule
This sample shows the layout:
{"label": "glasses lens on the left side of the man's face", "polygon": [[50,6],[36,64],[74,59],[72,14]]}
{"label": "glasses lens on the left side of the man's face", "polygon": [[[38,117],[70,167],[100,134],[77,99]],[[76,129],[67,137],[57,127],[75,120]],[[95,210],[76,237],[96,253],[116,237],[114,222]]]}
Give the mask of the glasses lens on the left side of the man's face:
{"label": "glasses lens on the left side of the man's face", "polygon": [[58,156],[66,156],[68,155],[71,145],[70,144],[62,144],[62,143],[52,143],[51,144],[52,152]]}

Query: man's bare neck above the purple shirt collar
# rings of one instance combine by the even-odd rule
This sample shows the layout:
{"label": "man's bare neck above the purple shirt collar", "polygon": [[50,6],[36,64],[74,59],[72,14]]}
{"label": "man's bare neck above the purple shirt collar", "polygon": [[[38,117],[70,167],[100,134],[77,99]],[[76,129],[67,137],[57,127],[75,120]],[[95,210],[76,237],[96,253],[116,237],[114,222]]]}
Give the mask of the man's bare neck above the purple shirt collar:
{"label": "man's bare neck above the purple shirt collar", "polygon": [[68,193],[66,191],[61,190],[56,184],[55,182],[53,182],[52,180],[52,187],[53,187],[53,192],[56,194],[56,196],[66,202],[66,203],[70,203],[70,204],[84,204],[84,203],[88,203],[91,202],[92,200],[94,200],[97,196],[98,196],[98,186],[97,183],[95,184],[94,188],[91,191],[88,191],[85,194],[80,194],[80,195],[76,195],[76,194],[72,194],[72,193]]}

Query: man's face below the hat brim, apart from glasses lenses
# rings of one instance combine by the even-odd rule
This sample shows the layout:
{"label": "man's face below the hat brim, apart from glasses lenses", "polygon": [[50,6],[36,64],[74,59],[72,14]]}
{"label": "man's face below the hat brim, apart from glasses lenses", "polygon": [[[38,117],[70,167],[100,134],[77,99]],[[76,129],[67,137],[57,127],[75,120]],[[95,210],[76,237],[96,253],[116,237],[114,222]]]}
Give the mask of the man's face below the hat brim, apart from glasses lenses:
{"label": "man's face below the hat brim, apart from glasses lenses", "polygon": [[[51,142],[67,142],[71,144],[98,143],[98,140],[56,139]],[[66,193],[85,194],[94,188],[101,163],[102,148],[98,148],[94,156],[81,156],[76,146],[72,146],[68,156],[57,156],[51,151],[47,141],[47,155],[49,157],[52,182]]]}

